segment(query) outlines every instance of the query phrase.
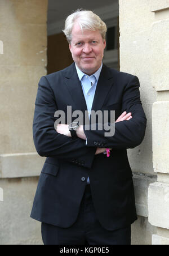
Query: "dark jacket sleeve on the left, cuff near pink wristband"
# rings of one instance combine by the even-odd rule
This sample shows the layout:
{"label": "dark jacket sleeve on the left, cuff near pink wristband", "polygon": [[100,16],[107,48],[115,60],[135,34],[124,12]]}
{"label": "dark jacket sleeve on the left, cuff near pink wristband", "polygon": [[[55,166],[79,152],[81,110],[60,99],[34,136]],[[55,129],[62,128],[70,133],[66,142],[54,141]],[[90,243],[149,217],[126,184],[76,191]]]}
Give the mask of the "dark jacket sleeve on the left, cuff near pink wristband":
{"label": "dark jacket sleeve on the left, cuff near pink wristband", "polygon": [[96,148],[86,147],[85,140],[57,133],[54,127],[56,110],[54,91],[47,78],[42,76],[33,118],[33,140],[38,154],[91,168]]}

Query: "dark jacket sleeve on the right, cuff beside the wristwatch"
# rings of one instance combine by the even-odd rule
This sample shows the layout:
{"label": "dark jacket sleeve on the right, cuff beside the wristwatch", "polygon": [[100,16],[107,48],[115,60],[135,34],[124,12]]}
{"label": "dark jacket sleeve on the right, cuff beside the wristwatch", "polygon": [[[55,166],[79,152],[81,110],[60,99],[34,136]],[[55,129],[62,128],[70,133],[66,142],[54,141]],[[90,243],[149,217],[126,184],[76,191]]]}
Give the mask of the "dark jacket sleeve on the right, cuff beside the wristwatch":
{"label": "dark jacket sleeve on the right, cuff beside the wristwatch", "polygon": [[[141,144],[145,135],[146,117],[140,101],[139,87],[139,79],[136,76],[132,76],[130,82],[124,87],[121,111],[122,113],[124,111],[131,112],[132,119],[115,123],[114,135],[105,136],[108,131],[104,130],[104,127],[103,130],[98,130],[98,123],[96,123],[96,130],[91,130],[91,125],[90,129],[86,129],[84,126],[88,147],[107,147],[122,150],[135,148]],[[108,123],[108,125],[112,124]]]}

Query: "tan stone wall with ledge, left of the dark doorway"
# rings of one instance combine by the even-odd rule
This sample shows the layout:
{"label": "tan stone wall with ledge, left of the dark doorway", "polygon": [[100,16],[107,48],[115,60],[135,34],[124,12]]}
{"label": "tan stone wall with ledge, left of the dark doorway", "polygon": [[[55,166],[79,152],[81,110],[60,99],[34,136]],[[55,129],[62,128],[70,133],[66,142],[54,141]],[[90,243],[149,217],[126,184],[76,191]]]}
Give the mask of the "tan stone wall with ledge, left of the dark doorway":
{"label": "tan stone wall with ledge, left of the dark doorway", "polygon": [[47,0],[0,1],[0,244],[41,244],[30,210],[44,159],[32,123],[46,75]]}

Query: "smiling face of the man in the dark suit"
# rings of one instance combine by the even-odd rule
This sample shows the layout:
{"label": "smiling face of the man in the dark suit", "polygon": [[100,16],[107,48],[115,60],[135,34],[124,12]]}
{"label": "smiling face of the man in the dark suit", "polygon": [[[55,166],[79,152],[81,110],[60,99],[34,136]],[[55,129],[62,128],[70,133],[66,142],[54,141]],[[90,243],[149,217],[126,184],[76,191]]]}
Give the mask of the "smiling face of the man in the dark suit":
{"label": "smiling face of the man in the dark suit", "polygon": [[82,32],[79,24],[74,24],[69,49],[74,62],[82,72],[92,75],[99,69],[105,46],[106,42],[99,31],[84,30]]}

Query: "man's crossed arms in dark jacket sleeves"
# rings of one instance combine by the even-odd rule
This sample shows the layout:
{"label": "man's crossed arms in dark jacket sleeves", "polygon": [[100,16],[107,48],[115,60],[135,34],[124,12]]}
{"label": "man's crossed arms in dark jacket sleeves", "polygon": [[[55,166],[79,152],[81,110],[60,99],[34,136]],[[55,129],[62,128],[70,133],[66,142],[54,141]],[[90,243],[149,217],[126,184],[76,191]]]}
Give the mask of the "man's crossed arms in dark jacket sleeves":
{"label": "man's crossed arms in dark jacket sleeves", "polygon": [[[142,142],[146,117],[140,101],[139,86],[139,80],[132,76],[124,88],[122,113],[126,112],[116,121],[114,136],[106,138],[107,148],[134,148]],[[79,138],[72,138],[64,134],[62,125],[55,130],[56,110],[54,91],[46,76],[43,76],[38,84],[33,120],[33,139],[37,152],[41,156],[56,157],[71,163],[73,159],[78,159],[79,163],[84,163],[84,167],[91,168],[95,154],[105,151],[105,147],[98,148],[93,143],[94,140],[105,140],[104,130],[85,130],[83,126],[79,130]]]}

